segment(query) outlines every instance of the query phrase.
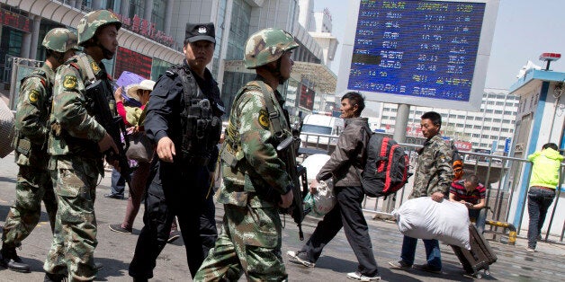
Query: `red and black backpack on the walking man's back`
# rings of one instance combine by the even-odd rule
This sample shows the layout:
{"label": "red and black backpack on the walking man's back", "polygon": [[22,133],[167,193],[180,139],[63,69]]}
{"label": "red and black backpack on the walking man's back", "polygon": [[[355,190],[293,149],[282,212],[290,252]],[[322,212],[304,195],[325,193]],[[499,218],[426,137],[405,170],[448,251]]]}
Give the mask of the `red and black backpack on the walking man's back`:
{"label": "red and black backpack on the walking man's back", "polygon": [[384,197],[395,193],[410,177],[408,154],[390,137],[372,133],[367,144],[367,163],[361,182],[369,197]]}

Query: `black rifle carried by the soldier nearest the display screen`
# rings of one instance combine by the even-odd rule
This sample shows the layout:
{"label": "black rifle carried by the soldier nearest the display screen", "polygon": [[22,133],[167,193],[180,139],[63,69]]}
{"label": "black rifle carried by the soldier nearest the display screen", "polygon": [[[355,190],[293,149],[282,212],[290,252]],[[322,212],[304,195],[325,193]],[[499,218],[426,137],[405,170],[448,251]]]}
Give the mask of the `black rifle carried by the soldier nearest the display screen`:
{"label": "black rifle carried by the soldier nearest the display screen", "polygon": [[[299,136],[300,132],[298,135],[293,133],[290,137],[286,137],[276,147],[276,151],[279,157],[284,161],[284,164],[286,165],[286,172],[288,172],[291,177],[292,195],[294,196],[291,207],[288,207],[282,212],[292,216],[294,223],[298,225],[300,241],[303,241],[304,234],[302,233],[302,220],[304,220],[305,216],[303,200],[308,193],[308,180],[306,177],[306,168],[300,164],[296,164],[296,154],[300,145]],[[302,185],[300,185],[300,180]]]}

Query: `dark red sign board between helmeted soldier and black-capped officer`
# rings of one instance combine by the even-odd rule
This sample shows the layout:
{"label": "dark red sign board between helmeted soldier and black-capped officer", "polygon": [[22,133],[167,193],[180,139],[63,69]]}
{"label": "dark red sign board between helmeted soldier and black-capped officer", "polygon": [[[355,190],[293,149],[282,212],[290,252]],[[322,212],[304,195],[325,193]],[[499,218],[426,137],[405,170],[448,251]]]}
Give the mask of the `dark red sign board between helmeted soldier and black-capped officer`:
{"label": "dark red sign board between helmeted soldier and black-capped officer", "polygon": [[123,71],[141,75],[147,79],[151,79],[151,62],[152,58],[142,55],[129,48],[118,47],[116,55],[116,66],[114,68],[114,76],[119,76]]}

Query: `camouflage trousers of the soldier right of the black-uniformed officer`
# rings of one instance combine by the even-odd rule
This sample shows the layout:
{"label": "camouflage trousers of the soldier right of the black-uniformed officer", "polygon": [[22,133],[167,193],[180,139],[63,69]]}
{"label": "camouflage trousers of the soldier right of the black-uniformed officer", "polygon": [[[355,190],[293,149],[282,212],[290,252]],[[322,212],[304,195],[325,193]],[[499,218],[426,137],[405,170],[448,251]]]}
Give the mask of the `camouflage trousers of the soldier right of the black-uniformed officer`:
{"label": "camouflage trousers of the soldier right of the black-uniformed officer", "polygon": [[[286,281],[281,219],[276,207],[224,205],[222,232],[194,281]],[[238,276],[238,277],[235,277]]]}

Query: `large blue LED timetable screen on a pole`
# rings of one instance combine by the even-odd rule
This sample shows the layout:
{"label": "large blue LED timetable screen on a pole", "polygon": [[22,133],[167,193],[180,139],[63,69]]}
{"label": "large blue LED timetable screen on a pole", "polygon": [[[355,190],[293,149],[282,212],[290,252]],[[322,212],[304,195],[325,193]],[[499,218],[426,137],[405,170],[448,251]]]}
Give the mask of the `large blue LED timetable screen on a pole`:
{"label": "large blue LED timetable screen on a pole", "polygon": [[469,101],[484,3],[362,0],[348,89]]}

